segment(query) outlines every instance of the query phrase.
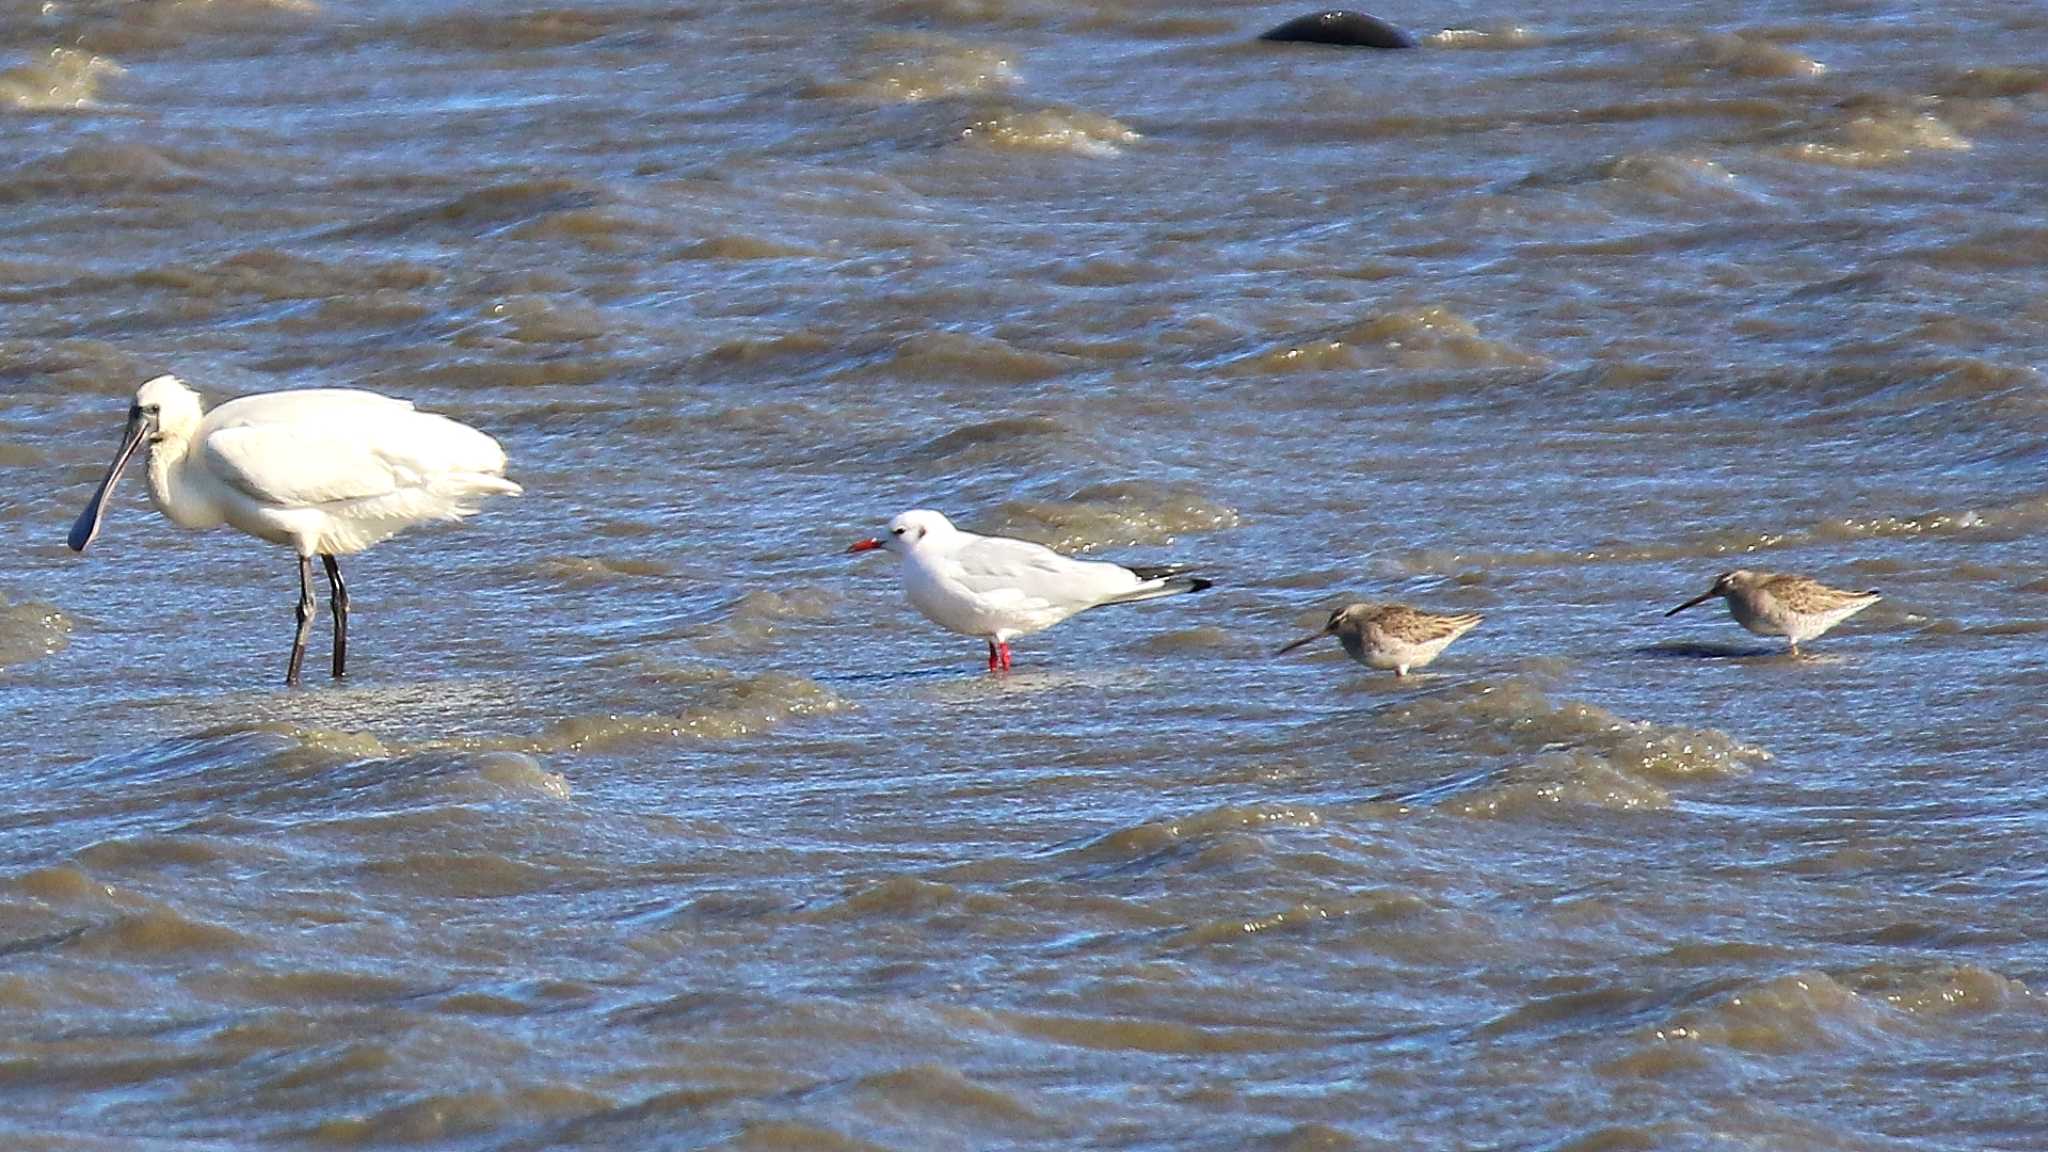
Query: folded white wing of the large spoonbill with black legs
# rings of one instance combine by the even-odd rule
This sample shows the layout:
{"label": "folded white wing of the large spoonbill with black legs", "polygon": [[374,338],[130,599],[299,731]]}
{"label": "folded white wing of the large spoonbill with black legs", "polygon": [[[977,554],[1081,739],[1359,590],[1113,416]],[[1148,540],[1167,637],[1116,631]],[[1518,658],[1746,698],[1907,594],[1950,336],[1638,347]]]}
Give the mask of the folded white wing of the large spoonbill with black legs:
{"label": "folded white wing of the large spoonbill with black legs", "polygon": [[223,404],[199,451],[217,480],[279,508],[442,488],[516,492],[498,480],[506,465],[498,441],[371,392],[272,392]]}

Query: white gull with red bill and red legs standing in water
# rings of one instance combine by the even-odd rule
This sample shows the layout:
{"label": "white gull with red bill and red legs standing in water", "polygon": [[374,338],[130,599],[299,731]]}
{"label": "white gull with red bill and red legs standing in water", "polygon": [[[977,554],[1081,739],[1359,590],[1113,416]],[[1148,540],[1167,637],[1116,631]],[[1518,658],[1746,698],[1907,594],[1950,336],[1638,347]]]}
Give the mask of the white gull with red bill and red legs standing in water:
{"label": "white gull with red bill and red legs standing in water", "polygon": [[1124,568],[1073,560],[1042,543],[975,535],[938,512],[915,508],[889,521],[889,535],[846,551],[903,558],[903,592],[932,623],[989,642],[989,670],[1010,668],[1010,642],[1098,605],[1200,592],[1210,580],[1186,568]]}

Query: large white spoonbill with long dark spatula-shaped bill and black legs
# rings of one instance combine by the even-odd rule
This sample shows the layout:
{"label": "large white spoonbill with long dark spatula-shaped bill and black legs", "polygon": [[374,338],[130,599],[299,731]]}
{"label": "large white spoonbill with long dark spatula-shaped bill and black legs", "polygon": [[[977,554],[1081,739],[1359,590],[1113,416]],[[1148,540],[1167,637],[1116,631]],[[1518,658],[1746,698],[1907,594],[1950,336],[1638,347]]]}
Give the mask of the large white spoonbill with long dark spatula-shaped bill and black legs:
{"label": "large white spoonbill with long dark spatula-shaped bill and black legs", "polygon": [[299,633],[285,683],[299,683],[313,631],[313,558],[328,568],[334,676],[348,660],[348,588],[334,558],[414,525],[459,521],[485,496],[518,496],[498,441],[406,400],[340,387],[264,392],[213,412],[174,375],[135,389],[121,451],[72,525],[72,551],[100,535],[121,469],[150,445],[150,498],[186,529],[229,525],[299,553]]}

